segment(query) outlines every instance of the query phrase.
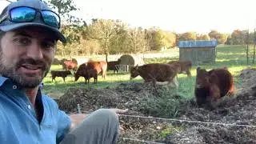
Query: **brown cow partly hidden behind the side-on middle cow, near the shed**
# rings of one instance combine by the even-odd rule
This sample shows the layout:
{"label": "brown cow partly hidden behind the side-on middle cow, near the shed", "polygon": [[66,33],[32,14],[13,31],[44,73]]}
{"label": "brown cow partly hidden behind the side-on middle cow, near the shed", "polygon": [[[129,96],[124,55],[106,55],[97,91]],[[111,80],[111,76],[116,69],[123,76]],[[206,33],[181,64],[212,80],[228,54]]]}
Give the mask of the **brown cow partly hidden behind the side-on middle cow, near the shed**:
{"label": "brown cow partly hidden behind the side-on middle cow, near the shed", "polygon": [[181,68],[181,70],[178,72],[178,74],[186,74],[188,77],[191,77],[191,67],[192,62],[191,61],[171,61],[168,62],[168,64],[178,64]]}

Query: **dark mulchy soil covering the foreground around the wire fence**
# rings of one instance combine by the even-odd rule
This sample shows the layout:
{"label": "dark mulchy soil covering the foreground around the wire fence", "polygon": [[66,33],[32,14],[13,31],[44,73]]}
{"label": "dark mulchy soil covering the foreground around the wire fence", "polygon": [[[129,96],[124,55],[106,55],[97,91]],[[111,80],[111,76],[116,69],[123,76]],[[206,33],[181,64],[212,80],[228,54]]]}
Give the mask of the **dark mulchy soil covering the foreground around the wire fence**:
{"label": "dark mulchy soil covering the foreground around the wire fence", "polygon": [[[256,143],[256,69],[242,70],[238,77],[242,79],[242,86],[237,87],[235,96],[222,98],[215,104],[214,110],[198,108],[194,98],[184,100],[166,86],[154,87],[131,82],[122,83],[115,88],[70,89],[58,100],[58,104],[69,114],[76,113],[79,104],[83,113],[99,108],[128,108],[126,115],[142,116],[119,116],[123,130],[118,143],[146,143],[122,138],[159,143]],[[172,111],[163,116],[161,111],[152,110],[150,105],[158,106],[154,102],[162,99],[162,91],[177,102],[177,113]],[[154,99],[150,105],[149,99]],[[189,122],[150,119],[144,116]]]}

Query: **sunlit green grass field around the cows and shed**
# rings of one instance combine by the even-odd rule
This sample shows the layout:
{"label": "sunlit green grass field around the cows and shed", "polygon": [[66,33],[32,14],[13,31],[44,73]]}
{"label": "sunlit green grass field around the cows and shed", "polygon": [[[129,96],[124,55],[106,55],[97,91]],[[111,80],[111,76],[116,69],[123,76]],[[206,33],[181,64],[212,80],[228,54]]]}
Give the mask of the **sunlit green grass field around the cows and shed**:
{"label": "sunlit green grass field around the cows and shed", "polygon": [[[203,65],[202,68],[206,68],[207,70],[210,70],[212,68],[218,68],[227,66],[232,74],[234,76],[237,76],[240,71],[247,67],[246,65],[246,50],[242,46],[218,46],[217,47],[217,59],[216,62],[212,65]],[[161,58],[153,58],[154,55],[161,55],[165,54]],[[164,52],[155,52],[151,54],[150,57],[145,57],[145,63],[152,63],[152,62],[159,62],[159,63],[166,63],[170,60],[178,60],[178,50],[166,50]],[[170,55],[170,57],[166,57],[166,55]],[[104,55],[102,56],[86,56],[86,58],[102,58],[105,59]],[[58,57],[59,58],[59,57]],[[110,56],[111,59],[111,56]],[[114,59],[112,57],[112,59]],[[250,63],[251,62],[250,58]],[[54,65],[51,67],[51,70],[61,70],[62,66]],[[196,66],[193,66],[192,68],[192,78],[187,78],[185,74],[179,74],[178,75],[178,82],[179,82],[179,90],[178,94],[182,95],[184,98],[191,98],[194,96],[194,80],[195,80],[195,69]],[[120,82],[142,82],[142,78],[138,77],[134,80],[130,81],[130,74],[114,74],[113,72],[108,72],[106,80],[102,79],[102,76],[100,75],[98,77],[98,83],[93,83],[93,78],[90,79],[90,85],[86,85],[84,83],[84,78],[79,78],[78,82],[74,82],[73,76],[68,76],[66,78],[66,82],[63,82],[62,78],[56,78],[57,82],[51,82],[51,76],[50,74],[47,74],[46,78],[44,79],[45,87],[43,89],[43,92],[45,94],[64,94],[66,90],[68,90],[70,87],[97,87],[97,88],[104,88],[106,86],[117,86]],[[241,82],[237,77],[235,77],[236,85],[240,85]]]}

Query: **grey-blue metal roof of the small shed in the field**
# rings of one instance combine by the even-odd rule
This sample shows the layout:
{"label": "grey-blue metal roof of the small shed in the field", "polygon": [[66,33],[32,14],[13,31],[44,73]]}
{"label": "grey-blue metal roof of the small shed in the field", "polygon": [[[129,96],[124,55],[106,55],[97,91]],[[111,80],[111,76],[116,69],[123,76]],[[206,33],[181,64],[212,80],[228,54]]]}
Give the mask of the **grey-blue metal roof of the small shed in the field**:
{"label": "grey-blue metal roof of the small shed in the field", "polygon": [[178,42],[179,48],[193,48],[193,47],[215,47],[218,45],[218,42],[216,40],[212,41],[180,41]]}

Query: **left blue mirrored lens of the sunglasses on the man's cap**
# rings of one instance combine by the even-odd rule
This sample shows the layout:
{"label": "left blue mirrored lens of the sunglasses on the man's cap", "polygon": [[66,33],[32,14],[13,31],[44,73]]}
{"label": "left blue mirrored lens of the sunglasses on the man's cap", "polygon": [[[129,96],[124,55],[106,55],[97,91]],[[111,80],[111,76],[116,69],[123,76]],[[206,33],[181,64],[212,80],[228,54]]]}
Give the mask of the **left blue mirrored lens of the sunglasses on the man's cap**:
{"label": "left blue mirrored lens of the sunglasses on the man's cap", "polygon": [[13,22],[30,22],[34,19],[36,11],[29,7],[17,7],[10,11]]}

